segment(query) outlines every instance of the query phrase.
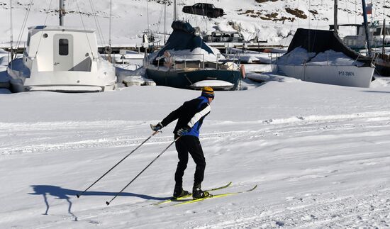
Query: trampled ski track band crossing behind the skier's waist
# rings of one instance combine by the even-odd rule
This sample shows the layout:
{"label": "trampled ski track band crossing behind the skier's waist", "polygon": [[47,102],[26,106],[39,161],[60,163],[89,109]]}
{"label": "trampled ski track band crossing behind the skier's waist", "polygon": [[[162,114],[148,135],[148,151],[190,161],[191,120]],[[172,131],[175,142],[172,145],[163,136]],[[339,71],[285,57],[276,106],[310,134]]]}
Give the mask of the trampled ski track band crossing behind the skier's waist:
{"label": "trampled ski track band crossing behind the skier's waist", "polygon": [[[345,123],[348,121],[348,123]],[[206,125],[223,125],[234,129],[248,122],[230,121],[206,121]],[[150,122],[152,123],[152,122]],[[376,127],[390,126],[390,111],[354,113],[338,116],[307,116],[280,118],[265,121],[252,121],[252,130],[232,130],[214,133],[201,133],[202,141],[218,141],[230,138],[265,138],[269,135],[291,135],[301,133],[317,133],[322,131],[364,129],[360,134],[354,135],[389,135],[389,131],[377,133]],[[13,155],[23,153],[42,153],[60,150],[77,150],[91,147],[131,147],[138,145],[147,138],[149,124],[145,121],[92,121],[92,122],[40,122],[40,123],[0,123],[2,130],[0,138],[0,155]],[[172,126],[165,128],[164,132],[172,133]],[[367,130],[366,130],[367,128]],[[222,128],[221,128],[222,129]],[[371,130],[372,131],[369,131]],[[82,130],[82,131],[80,131]],[[144,136],[134,133],[145,133]],[[20,142],[18,137],[29,141]],[[96,137],[96,135],[98,137]],[[155,136],[147,144],[169,143],[172,135],[166,133]],[[66,141],[67,136],[72,136],[72,141]],[[74,141],[74,136],[80,138]],[[332,138],[334,136],[330,136]],[[318,137],[313,137],[318,138]],[[321,138],[326,136],[321,135]],[[340,135],[337,136],[340,138]],[[390,140],[389,140],[390,141]]]}

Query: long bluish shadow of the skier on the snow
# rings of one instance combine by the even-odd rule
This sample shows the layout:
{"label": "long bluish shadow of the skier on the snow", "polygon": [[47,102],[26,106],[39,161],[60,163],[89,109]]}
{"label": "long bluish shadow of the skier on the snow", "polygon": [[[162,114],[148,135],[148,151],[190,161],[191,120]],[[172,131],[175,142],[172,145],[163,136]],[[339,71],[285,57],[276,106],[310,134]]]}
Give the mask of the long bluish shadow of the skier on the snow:
{"label": "long bluish shadow of the skier on the snow", "polygon": [[[33,187],[33,193],[30,193],[30,195],[42,195],[43,200],[46,204],[46,211],[43,213],[43,215],[48,215],[48,211],[50,208],[49,202],[48,202],[48,195],[49,196],[55,196],[56,199],[65,199],[69,203],[69,207],[67,209],[67,212],[74,217],[74,221],[77,221],[77,216],[74,216],[74,214],[71,211],[72,208],[72,201],[70,201],[71,196],[73,198],[77,198],[76,195],[80,194],[81,191],[79,190],[72,190],[72,189],[63,189],[60,186],[52,186],[52,185],[31,185]],[[115,196],[116,192],[107,192],[107,191],[86,191],[84,192],[83,196]],[[133,194],[130,192],[123,192],[119,194],[118,196],[134,196],[142,199],[147,200],[165,200],[169,199],[169,197],[154,197],[154,196],[147,196],[143,194]]]}

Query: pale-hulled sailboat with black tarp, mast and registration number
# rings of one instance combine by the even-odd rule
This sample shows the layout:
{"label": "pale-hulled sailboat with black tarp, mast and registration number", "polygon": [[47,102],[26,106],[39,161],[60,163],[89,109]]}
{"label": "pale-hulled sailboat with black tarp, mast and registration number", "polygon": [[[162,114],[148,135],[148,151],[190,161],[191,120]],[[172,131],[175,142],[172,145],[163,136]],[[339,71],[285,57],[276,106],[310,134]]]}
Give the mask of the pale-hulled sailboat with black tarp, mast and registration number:
{"label": "pale-hulled sailboat with black tarp, mast and registration number", "polygon": [[[337,0],[335,28],[336,12]],[[272,70],[307,82],[369,87],[375,69],[373,61],[374,58],[344,45],[336,29],[333,32],[299,28],[286,54],[272,63]]]}

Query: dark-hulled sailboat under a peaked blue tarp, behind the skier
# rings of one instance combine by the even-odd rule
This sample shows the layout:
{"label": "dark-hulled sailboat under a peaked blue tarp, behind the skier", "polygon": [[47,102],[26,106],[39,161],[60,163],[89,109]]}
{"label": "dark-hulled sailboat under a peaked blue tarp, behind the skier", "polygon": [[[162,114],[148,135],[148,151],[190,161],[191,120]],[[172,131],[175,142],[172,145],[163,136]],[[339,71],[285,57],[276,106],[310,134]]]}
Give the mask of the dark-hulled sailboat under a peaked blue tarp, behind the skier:
{"label": "dark-hulled sailboat under a peaked blue tarp, behind the skier", "polygon": [[182,89],[237,89],[240,67],[208,46],[189,23],[177,20],[176,1],[174,9],[173,32],[167,43],[145,57],[147,77],[157,85]]}

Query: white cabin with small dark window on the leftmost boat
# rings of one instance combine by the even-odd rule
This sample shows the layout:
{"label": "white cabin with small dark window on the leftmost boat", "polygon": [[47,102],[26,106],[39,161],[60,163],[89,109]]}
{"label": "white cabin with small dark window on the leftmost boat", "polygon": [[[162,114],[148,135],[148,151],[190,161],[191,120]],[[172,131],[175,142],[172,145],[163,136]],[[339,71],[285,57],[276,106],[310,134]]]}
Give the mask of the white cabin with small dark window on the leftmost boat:
{"label": "white cabin with small dark window on the leftmost boat", "polygon": [[[99,55],[94,30],[36,26],[28,28],[24,62],[36,72],[91,72],[92,60]],[[86,45],[87,44],[87,45]]]}

